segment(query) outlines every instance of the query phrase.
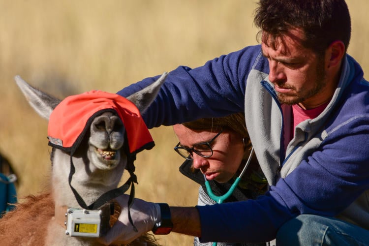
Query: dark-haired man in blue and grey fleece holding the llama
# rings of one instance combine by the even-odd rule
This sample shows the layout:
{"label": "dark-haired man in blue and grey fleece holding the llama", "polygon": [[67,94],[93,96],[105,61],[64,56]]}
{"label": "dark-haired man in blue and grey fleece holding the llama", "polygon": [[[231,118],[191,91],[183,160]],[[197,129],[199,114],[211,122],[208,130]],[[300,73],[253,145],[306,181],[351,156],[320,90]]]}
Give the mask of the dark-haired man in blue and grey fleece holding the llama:
{"label": "dark-haired man in blue and grey fleece holding the llama", "polygon": [[[369,83],[346,55],[346,3],[260,0],[254,22],[261,45],[195,69],[178,67],[143,117],[154,127],[245,111],[269,191],[256,200],[170,212],[136,199],[131,214],[138,232],[124,208],[106,243],[152,229],[169,232],[170,222],[174,232],[202,242],[369,242]],[[127,96],[156,78],[118,93]],[[127,196],[117,200],[126,204]]]}

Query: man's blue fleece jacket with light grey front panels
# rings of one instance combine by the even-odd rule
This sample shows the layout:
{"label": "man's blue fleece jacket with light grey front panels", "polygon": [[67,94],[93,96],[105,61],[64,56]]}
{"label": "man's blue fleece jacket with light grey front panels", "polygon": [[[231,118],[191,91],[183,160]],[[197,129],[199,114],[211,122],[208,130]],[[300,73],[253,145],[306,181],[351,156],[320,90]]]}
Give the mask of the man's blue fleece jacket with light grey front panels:
{"label": "man's blue fleece jacket with light grey front panels", "polygon": [[[256,200],[198,206],[202,242],[266,242],[302,214],[337,216],[369,229],[369,83],[346,55],[326,109],[290,131],[292,109],[277,100],[260,45],[201,67],[170,72],[143,114],[149,128],[245,111],[255,154],[270,185]],[[158,78],[118,92],[132,94]],[[216,216],[214,216],[216,215]]]}

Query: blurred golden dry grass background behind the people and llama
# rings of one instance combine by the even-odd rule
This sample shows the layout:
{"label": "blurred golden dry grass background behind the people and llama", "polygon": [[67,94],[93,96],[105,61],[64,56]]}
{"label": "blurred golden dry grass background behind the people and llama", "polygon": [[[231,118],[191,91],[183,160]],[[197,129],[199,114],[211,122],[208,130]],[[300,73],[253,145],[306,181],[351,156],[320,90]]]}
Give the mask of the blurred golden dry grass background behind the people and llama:
{"label": "blurred golden dry grass background behind the people and llama", "polygon": [[[347,0],[348,53],[369,71],[369,1]],[[47,121],[26,102],[13,77],[59,98],[90,90],[117,92],[178,65],[195,67],[256,44],[254,0],[0,0],[0,153],[13,165],[19,197],[48,185]],[[136,196],[194,206],[198,185],[180,174],[172,127],[150,130],[156,146],[138,154]],[[192,237],[159,237],[167,246]]]}

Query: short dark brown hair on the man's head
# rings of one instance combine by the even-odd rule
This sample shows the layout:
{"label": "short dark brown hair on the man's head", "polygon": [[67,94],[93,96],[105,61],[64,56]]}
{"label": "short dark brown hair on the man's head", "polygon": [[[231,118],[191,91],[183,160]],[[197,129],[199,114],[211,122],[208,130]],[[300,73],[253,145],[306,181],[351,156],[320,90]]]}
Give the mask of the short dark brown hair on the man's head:
{"label": "short dark brown hair on the man's head", "polygon": [[302,45],[322,54],[335,40],[347,51],[351,37],[351,19],[344,0],[260,0],[254,23],[260,28],[261,41],[275,48],[277,37],[291,28],[305,33]]}

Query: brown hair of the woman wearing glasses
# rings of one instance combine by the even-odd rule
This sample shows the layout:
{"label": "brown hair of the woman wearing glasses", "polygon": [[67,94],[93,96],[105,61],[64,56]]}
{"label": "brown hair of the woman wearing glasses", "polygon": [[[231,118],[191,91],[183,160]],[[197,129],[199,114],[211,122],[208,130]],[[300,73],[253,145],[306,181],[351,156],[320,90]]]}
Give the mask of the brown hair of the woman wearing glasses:
{"label": "brown hair of the woman wearing glasses", "polygon": [[231,130],[243,138],[245,147],[251,148],[250,137],[246,129],[245,114],[236,113],[229,116],[218,118],[202,118],[199,120],[182,123],[185,127],[192,130]]}

